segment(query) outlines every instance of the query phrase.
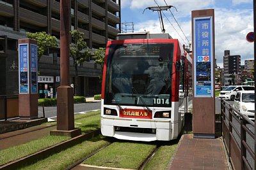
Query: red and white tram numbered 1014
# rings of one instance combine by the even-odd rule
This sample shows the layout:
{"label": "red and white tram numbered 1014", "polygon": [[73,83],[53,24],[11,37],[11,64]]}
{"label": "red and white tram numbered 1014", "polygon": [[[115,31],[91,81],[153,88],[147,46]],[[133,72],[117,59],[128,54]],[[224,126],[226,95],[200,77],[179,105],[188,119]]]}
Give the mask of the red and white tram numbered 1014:
{"label": "red and white tram numbered 1014", "polygon": [[120,34],[108,41],[102,75],[101,133],[170,141],[192,104],[192,59],[169,34]]}

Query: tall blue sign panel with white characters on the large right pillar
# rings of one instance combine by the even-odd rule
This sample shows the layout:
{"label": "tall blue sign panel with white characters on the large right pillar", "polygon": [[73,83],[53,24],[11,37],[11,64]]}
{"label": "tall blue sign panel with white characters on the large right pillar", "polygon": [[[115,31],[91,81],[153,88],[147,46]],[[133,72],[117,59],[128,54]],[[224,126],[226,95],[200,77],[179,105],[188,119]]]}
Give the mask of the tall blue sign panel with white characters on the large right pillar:
{"label": "tall blue sign panel with white characters on the large right pillar", "polygon": [[194,96],[213,97],[212,17],[194,18]]}

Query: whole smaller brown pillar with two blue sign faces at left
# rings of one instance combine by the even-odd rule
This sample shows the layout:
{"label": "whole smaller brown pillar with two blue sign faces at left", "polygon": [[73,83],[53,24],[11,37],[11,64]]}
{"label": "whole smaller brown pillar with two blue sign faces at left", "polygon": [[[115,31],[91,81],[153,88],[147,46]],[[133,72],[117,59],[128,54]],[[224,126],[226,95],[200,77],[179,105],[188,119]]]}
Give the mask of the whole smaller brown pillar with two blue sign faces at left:
{"label": "whole smaller brown pillar with two blue sign faces at left", "polygon": [[19,39],[19,117],[38,118],[37,42]]}

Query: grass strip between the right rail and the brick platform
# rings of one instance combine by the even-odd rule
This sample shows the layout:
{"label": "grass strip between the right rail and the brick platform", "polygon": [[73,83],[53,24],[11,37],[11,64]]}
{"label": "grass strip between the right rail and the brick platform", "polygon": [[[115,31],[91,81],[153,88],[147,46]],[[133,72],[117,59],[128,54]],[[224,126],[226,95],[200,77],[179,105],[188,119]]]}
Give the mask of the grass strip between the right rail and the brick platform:
{"label": "grass strip between the right rail and the brick platform", "polygon": [[159,150],[144,167],[145,170],[165,170],[177,150],[179,139],[162,143]]}

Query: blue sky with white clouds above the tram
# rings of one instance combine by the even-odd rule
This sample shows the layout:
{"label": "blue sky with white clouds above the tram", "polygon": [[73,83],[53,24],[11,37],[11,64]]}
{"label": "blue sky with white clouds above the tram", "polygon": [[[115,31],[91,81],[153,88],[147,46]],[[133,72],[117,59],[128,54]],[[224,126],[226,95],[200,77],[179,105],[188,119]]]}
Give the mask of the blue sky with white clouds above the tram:
{"label": "blue sky with white clouds above the tram", "polygon": [[135,32],[159,33],[161,25],[157,11],[145,10],[148,6],[157,4],[175,6],[177,11],[175,8],[171,8],[172,13],[163,11],[164,29],[186,45],[189,41],[192,42],[191,11],[214,9],[215,55],[218,66],[223,67],[224,50],[230,50],[230,55],[241,55],[242,65],[244,60],[254,58],[253,43],[246,41],[246,34],[253,31],[252,0],[121,0],[121,22],[133,22]]}

